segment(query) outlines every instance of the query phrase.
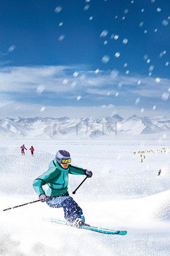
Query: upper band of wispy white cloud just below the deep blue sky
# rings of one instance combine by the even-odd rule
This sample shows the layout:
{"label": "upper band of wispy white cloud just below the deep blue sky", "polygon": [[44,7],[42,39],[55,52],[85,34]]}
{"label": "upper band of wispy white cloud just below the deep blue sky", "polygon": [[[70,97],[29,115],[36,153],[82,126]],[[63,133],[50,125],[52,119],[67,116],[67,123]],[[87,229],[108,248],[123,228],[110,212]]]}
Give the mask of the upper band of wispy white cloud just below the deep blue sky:
{"label": "upper band of wispy white cloud just below the deep blue sky", "polygon": [[[76,77],[75,73],[78,74]],[[125,76],[118,73],[117,70],[100,70],[95,74],[95,71],[78,70],[78,67],[73,66],[0,68],[0,92],[33,93],[39,86],[43,86],[46,92],[71,92],[74,94],[79,89],[81,93],[101,95],[109,90],[112,94],[113,90],[113,94],[115,94],[117,85],[121,82],[126,93],[155,98],[166,90],[170,79],[161,78],[159,84],[155,80],[154,77],[139,76],[138,74]],[[140,84],[139,81],[141,81]]]}

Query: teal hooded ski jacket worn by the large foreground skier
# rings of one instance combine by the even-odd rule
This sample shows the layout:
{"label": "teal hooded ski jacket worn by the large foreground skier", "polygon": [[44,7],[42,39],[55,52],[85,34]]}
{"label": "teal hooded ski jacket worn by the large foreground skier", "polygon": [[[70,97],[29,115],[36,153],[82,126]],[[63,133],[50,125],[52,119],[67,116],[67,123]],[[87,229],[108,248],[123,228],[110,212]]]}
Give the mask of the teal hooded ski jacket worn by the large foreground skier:
{"label": "teal hooded ski jacket worn by the large foreground skier", "polygon": [[[64,169],[54,159],[50,162],[48,171],[33,181],[33,188],[36,190],[38,196],[40,194],[45,194],[48,197],[61,196],[68,193],[69,173],[83,175],[85,171],[86,169],[71,164],[68,165],[67,169]],[[46,191],[43,188],[44,185],[46,185]]]}

